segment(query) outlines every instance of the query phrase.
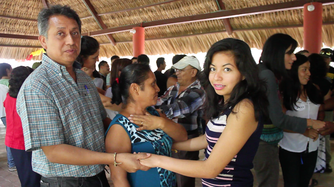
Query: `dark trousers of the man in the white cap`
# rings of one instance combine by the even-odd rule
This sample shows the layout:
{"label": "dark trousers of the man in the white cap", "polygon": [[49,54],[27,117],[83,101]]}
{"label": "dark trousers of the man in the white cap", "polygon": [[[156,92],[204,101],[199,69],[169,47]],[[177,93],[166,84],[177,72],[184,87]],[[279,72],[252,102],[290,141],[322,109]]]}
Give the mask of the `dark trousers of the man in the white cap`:
{"label": "dark trousers of the man in the white cap", "polygon": [[[194,130],[197,131],[197,130]],[[188,135],[188,139],[196,138],[198,134]],[[172,151],[172,157],[185,160],[198,160],[199,151]],[[177,187],[195,187],[195,178],[176,173]]]}

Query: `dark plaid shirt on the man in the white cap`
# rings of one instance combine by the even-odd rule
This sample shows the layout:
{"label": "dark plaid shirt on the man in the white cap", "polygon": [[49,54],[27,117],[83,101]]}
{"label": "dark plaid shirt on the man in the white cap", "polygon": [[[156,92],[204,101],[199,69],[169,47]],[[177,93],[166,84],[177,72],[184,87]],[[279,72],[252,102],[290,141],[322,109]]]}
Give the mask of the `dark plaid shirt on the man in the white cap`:
{"label": "dark plaid shirt on the man in the white cap", "polygon": [[169,87],[156,106],[160,106],[167,118],[183,125],[187,131],[196,130],[203,114],[205,91],[198,80],[177,95],[179,88],[179,83]]}

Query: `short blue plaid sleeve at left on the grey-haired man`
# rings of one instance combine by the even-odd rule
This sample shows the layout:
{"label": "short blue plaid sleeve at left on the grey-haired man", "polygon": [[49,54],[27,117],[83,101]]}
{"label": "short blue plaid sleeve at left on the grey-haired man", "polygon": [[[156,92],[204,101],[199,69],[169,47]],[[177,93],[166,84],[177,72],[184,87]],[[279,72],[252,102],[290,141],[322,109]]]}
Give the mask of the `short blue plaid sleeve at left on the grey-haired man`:
{"label": "short blue plaid sleeve at left on the grey-haired man", "polygon": [[26,151],[64,143],[62,122],[54,100],[36,90],[23,88],[16,105]]}

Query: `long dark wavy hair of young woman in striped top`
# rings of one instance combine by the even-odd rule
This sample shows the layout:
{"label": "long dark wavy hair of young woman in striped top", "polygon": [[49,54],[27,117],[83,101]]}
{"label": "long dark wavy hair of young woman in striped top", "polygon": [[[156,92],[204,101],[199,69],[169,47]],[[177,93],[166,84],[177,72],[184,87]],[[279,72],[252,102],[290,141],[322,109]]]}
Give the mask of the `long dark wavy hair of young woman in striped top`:
{"label": "long dark wavy hair of young woman in striped top", "polygon": [[[232,89],[230,99],[225,103],[224,97],[218,95],[209,81],[210,65],[212,56],[215,53],[229,51],[233,54],[235,64],[244,80],[238,82]],[[204,71],[201,73],[200,81],[206,91],[205,118],[218,117],[224,110],[233,108],[243,99],[250,99],[253,102],[256,120],[260,116],[268,116],[268,99],[265,82],[259,78],[258,66],[252,56],[249,46],[241,40],[225,38],[214,43],[208,50]]]}

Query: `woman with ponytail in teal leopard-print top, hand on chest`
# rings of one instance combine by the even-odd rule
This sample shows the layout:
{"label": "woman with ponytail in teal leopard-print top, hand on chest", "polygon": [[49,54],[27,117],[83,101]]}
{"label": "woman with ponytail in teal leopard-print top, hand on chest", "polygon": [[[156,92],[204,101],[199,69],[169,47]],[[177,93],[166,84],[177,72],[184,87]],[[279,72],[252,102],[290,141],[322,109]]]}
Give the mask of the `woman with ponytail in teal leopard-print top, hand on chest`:
{"label": "woman with ponytail in teal leopard-print top, hand on chest", "polygon": [[[111,90],[112,104],[122,104],[123,109],[106,132],[107,153],[147,152],[170,157],[173,141],[187,139],[182,125],[151,107],[156,105],[160,89],[149,65],[135,63],[126,66],[113,82]],[[131,115],[142,115],[143,121],[134,120]],[[151,122],[154,125],[150,125]],[[176,184],[175,173],[157,167],[136,173],[127,173],[120,167],[110,167],[110,171],[115,187],[174,187]]]}

